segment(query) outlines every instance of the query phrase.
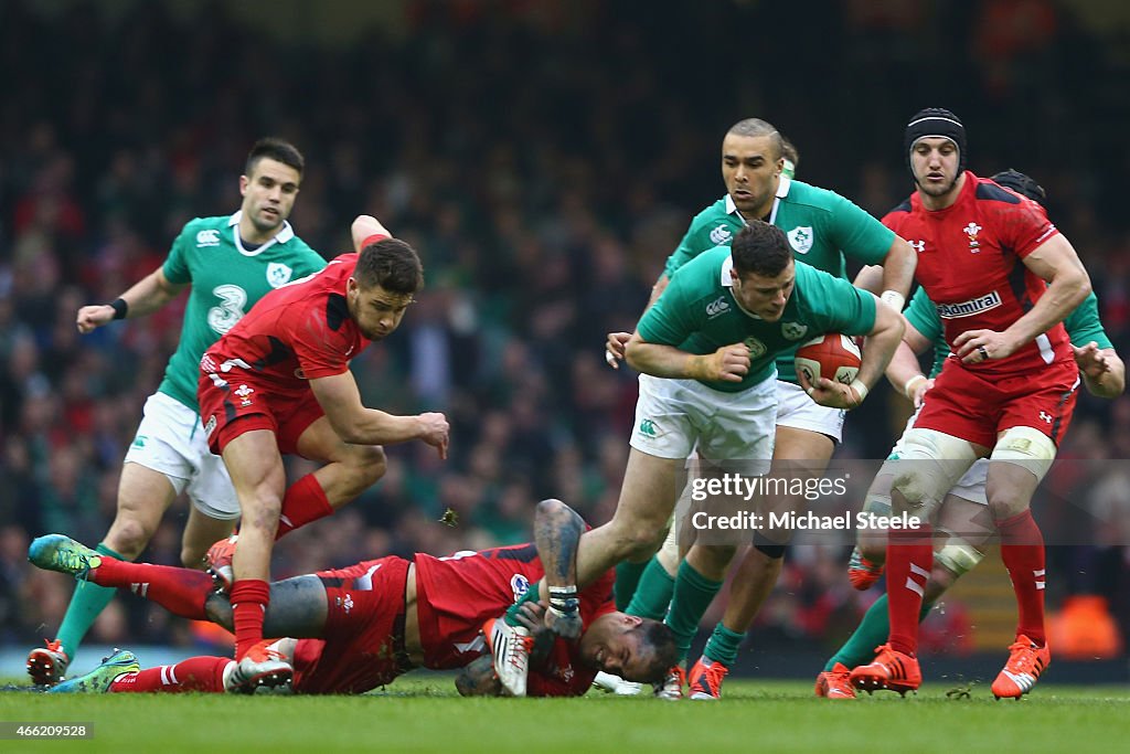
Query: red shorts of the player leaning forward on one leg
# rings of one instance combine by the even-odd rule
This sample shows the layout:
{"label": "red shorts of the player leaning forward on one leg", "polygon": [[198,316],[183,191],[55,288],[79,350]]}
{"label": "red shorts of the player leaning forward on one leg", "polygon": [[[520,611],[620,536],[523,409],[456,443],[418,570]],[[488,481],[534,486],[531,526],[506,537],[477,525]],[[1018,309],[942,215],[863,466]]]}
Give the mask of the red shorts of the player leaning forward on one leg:
{"label": "red shorts of the player leaning forward on one leg", "polygon": [[255,373],[234,369],[217,383],[201,373],[197,384],[200,421],[208,449],[221,456],[227,443],[252,430],[275,433],[279,452],[298,453],[298,437],[325,415],[308,387],[302,392],[278,392],[263,385]]}

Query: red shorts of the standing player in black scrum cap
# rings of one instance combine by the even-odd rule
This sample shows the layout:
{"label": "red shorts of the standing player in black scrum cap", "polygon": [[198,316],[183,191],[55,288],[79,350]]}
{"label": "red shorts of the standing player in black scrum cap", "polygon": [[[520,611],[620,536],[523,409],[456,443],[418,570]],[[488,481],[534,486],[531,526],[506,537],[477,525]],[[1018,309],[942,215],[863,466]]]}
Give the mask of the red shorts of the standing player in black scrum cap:
{"label": "red shorts of the standing player in black scrum cap", "polygon": [[936,430],[992,448],[997,435],[1015,426],[1038,430],[1059,444],[1075,411],[1079,369],[1075,361],[1050,364],[1034,374],[982,375],[956,358],[925,393],[914,426]]}

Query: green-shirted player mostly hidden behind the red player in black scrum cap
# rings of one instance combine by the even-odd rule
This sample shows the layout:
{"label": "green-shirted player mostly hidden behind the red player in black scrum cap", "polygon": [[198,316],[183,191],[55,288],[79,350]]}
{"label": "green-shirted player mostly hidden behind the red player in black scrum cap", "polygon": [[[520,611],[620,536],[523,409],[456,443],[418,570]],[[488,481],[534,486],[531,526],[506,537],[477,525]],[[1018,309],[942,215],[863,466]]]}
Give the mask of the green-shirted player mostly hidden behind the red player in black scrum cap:
{"label": "green-shirted player mostly hidden behind the red player in black scrum cap", "polygon": [[[1045,199],[1044,190],[1031,177],[1017,171],[998,173],[992,180],[1034,201],[1043,203]],[[868,272],[875,274],[873,270],[864,270],[864,274]],[[927,391],[933,384],[933,378],[941,371],[941,365],[949,355],[949,346],[941,336],[941,320],[937,309],[923,291],[920,289],[914,295],[904,313],[907,324],[903,341],[907,348],[899,349],[887,374],[896,385],[903,385],[906,397],[914,402],[916,409],[920,409]],[[1083,304],[1063,320],[1063,326],[1071,339],[1075,361],[1087,390],[1099,398],[1122,395],[1125,389],[1125,365],[1103,329],[1095,295],[1088,295]],[[922,354],[931,345],[935,346],[935,363],[930,375],[927,376],[922,374],[916,358],[912,357],[910,352]],[[911,426],[913,421],[912,417],[907,426]],[[895,444],[892,456],[897,454],[901,442]],[[983,545],[994,534],[986,511],[988,465],[989,461],[985,459],[976,461],[950,488],[942,502],[938,528],[947,538],[935,546],[933,571],[925,586],[920,614],[922,618],[957,579],[981,562],[984,557]],[[892,479],[890,475],[876,477],[867,493],[864,503],[867,510],[878,515],[889,515]],[[883,574],[886,561],[886,532],[860,531],[859,534],[859,544],[852,552],[849,577],[857,589],[868,589]],[[875,648],[884,642],[888,630],[887,598],[884,595],[867,610],[859,627],[844,645],[828,659],[824,670],[817,676],[816,694],[828,699],[853,699],[855,691],[849,681],[852,668],[871,661]],[[1001,694],[1006,696],[1019,695],[1015,684],[999,684],[996,691],[1006,692]]]}

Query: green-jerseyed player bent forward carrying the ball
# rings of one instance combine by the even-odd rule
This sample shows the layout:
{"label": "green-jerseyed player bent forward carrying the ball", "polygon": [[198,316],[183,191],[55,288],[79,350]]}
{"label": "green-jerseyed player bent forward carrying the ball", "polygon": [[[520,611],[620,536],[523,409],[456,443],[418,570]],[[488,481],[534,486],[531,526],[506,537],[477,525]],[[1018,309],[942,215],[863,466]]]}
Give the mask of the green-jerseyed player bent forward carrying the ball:
{"label": "green-jerseyed player bent forward carrying the ball", "polygon": [[[642,374],[616,513],[581,539],[575,583],[555,583],[547,575],[547,624],[567,622],[564,595],[618,562],[642,561],[655,552],[692,450],[697,449],[709,474],[734,462],[750,478],[765,474],[773,456],[775,362],[782,352],[791,350],[800,337],[867,336],[859,374],[850,385],[826,378],[802,382],[806,400],[845,410],[859,406],[883,374],[902,330],[894,309],[846,280],[794,261],[785,233],[759,220],[742,227],[731,248],[720,246],[684,265],[627,345],[627,362]],[[709,591],[696,573],[688,580]],[[683,658],[715,592],[705,600],[687,600],[668,616]],[[562,609],[554,609],[555,595]],[[507,621],[511,632],[522,632],[512,616]],[[502,643],[520,640],[506,638]],[[521,687],[521,678],[511,677],[521,665],[499,661],[501,655],[495,659],[503,685]],[[672,668],[660,695],[681,696],[684,683],[683,668]]]}

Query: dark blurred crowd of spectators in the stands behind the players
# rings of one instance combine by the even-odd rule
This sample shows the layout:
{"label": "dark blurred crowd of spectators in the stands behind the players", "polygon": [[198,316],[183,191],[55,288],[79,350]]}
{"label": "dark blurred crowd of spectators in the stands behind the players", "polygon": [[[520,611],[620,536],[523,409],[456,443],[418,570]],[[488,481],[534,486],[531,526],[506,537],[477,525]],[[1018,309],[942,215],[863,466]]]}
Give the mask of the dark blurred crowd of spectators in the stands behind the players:
{"label": "dark blurred crowd of spectators in the stands behind the players", "polygon": [[[742,118],[797,144],[798,177],[881,216],[911,190],[906,119],[954,110],[974,172],[1015,167],[1048,189],[1130,356],[1120,3],[641,6],[0,3],[0,645],[54,635],[71,583],[27,565],[27,543],[105,534],[183,297],[85,337],[76,311],[160,265],[188,219],[237,209],[262,136],[304,151],[290,220],[327,258],[348,250],[360,213],[420,250],[427,289],[354,371],[367,405],[452,423],[446,462],[421,444],[389,449],[380,484],[279,543],[277,577],[523,541],[546,496],[607,520],[636,387],[605,365],[605,333],[633,329],[690,218],[723,194],[721,138]],[[907,410],[876,395],[849,417],[841,453],[884,458]],[[1061,450],[1075,460],[1045,484],[1042,523],[1098,511],[1109,526],[1052,548],[1049,600],[1105,600],[1118,652],[1130,633],[1130,398],[1085,395],[1076,416]],[[184,504],[146,560],[177,562]],[[458,527],[440,522],[449,509]],[[841,638],[875,598],[850,589],[845,561],[841,547],[794,547],[755,641]],[[967,633],[959,606],[947,615],[942,635]],[[92,634],[127,638],[193,641],[130,597]]]}

